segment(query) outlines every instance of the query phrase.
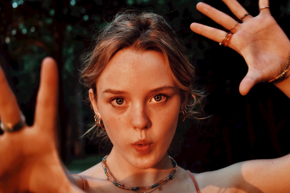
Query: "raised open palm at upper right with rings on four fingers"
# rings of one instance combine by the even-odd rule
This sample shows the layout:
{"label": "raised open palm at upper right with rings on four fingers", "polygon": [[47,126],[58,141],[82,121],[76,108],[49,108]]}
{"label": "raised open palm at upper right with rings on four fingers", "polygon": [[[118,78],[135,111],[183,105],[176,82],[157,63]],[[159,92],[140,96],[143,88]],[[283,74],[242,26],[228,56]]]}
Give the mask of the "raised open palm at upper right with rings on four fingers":
{"label": "raised open palm at upper right with rings on four fingers", "polygon": [[[238,19],[202,2],[197,4],[197,10],[233,33],[228,46],[241,54],[248,65],[248,72],[239,88],[245,95],[256,83],[273,79],[283,72],[290,53],[290,41],[271,16],[269,8],[263,8],[269,6],[268,0],[259,1],[259,7],[263,9],[258,16],[248,14],[240,23],[237,22],[247,10],[236,0],[222,1]],[[216,42],[222,42],[227,33],[200,23],[192,23],[190,28]]]}

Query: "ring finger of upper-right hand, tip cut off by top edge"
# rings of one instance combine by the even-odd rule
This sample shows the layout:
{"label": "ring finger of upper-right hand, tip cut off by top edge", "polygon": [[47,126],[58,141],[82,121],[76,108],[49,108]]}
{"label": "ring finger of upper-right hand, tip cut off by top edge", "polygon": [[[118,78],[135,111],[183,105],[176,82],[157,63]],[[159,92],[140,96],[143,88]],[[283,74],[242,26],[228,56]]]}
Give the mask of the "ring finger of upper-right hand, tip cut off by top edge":
{"label": "ring finger of upper-right hand, tip cut off by top edge", "polygon": [[226,6],[231,10],[231,12],[242,22],[247,21],[252,18],[251,15],[247,15],[247,10],[238,1],[235,0],[222,0]]}

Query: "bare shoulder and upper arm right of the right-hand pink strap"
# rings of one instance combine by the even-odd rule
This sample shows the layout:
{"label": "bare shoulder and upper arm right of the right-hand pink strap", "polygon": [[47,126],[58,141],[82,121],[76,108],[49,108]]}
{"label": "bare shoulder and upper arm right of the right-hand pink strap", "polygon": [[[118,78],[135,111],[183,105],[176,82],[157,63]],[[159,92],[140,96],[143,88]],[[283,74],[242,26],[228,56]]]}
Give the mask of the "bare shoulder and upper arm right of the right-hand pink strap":
{"label": "bare shoulder and upper arm right of the right-hand pink strap", "polygon": [[202,193],[290,192],[290,155],[235,163],[220,170],[194,174]]}

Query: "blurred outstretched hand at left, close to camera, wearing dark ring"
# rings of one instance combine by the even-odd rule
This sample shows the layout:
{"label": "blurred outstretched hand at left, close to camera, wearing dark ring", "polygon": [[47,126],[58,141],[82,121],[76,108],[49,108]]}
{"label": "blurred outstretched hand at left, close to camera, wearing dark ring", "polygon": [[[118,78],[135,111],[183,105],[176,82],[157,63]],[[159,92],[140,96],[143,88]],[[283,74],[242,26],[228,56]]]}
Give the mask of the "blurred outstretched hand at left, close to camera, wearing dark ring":
{"label": "blurred outstretched hand at left, close to camera, wearing dark ring", "polygon": [[[21,112],[1,68],[0,90],[1,122],[16,125],[21,120]],[[81,192],[70,183],[59,159],[55,136],[57,103],[57,64],[54,59],[45,58],[34,124],[0,135],[1,193]]]}

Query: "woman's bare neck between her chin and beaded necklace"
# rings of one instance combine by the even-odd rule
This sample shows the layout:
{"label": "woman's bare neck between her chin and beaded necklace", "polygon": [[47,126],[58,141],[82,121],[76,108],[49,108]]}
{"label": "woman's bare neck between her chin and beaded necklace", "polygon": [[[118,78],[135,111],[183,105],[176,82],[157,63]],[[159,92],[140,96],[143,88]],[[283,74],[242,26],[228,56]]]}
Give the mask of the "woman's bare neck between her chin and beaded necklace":
{"label": "woman's bare neck between her chin and beaded necklace", "polygon": [[145,168],[136,167],[136,165],[127,162],[114,149],[106,158],[106,170],[112,179],[121,181],[129,187],[153,185],[168,177],[172,173],[173,167],[167,154],[156,164]]}

